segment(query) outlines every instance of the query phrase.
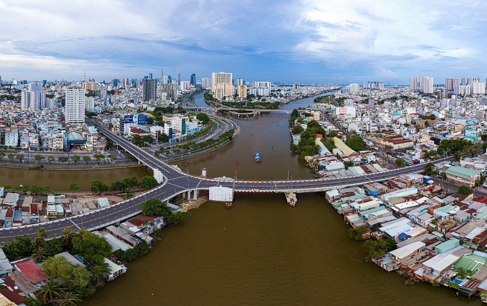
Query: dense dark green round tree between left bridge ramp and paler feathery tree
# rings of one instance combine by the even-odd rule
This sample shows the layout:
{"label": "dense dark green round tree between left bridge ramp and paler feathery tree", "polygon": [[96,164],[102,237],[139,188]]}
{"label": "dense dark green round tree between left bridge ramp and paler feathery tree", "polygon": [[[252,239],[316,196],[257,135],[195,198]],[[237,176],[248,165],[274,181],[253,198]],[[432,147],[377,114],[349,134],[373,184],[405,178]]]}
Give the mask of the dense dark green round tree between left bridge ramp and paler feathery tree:
{"label": "dense dark green round tree between left bridge ramp and paler feathery tree", "polygon": [[112,246],[96,234],[88,230],[81,229],[72,240],[72,252],[80,254],[83,258],[91,264],[101,264],[103,257],[110,255]]}

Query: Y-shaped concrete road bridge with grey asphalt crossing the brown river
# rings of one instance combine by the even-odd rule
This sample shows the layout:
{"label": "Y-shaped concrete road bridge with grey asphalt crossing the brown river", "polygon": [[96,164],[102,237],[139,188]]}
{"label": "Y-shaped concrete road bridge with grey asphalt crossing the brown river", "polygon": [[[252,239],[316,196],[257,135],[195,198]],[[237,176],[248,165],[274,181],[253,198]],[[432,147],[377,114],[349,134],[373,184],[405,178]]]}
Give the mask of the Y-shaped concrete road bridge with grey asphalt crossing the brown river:
{"label": "Y-shaped concrete road bridge with grey asphalt crossing the brown river", "polygon": [[[154,189],[139,194],[130,199],[116,203],[106,208],[98,209],[86,214],[70,216],[54,221],[29,224],[11,228],[0,229],[0,243],[16,235],[27,234],[30,237],[35,235],[37,228],[43,227],[49,233],[48,238],[62,235],[62,230],[72,227],[74,230],[86,228],[97,230],[111,224],[122,222],[132,216],[141,213],[141,204],[148,198],[157,198],[162,201],[182,195],[187,198],[196,198],[201,190],[209,190],[211,187],[226,187],[231,189],[232,195],[235,192],[249,193],[304,193],[322,192],[336,188],[358,186],[364,183],[388,180],[398,175],[418,173],[423,171],[423,165],[413,165],[393,169],[381,173],[365,174],[361,176],[343,177],[335,179],[311,179],[311,180],[216,180],[196,177],[181,171],[177,166],[171,166],[151,153],[141,150],[126,139],[110,132],[101,123],[94,120],[87,120],[88,124],[97,125],[97,128],[114,143],[124,148],[133,157],[146,164],[154,171],[154,177],[161,184]],[[451,160],[452,157],[443,158],[435,162]]]}

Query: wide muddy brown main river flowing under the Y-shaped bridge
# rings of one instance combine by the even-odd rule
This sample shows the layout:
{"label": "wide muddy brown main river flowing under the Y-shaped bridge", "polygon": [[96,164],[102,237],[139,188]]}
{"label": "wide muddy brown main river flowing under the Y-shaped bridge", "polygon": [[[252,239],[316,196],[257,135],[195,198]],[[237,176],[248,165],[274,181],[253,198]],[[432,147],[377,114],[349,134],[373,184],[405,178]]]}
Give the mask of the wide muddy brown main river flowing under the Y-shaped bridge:
{"label": "wide muddy brown main river flowing under the Y-shaped bridge", "polygon": [[[202,95],[195,100],[201,103]],[[285,108],[312,103],[302,99]],[[231,144],[176,164],[195,175],[205,167],[208,177],[233,178],[237,171],[238,179],[284,180],[289,171],[293,179],[312,178],[289,150],[288,118],[236,119],[242,133]],[[282,194],[235,194],[229,210],[206,202],[192,212],[164,229],[154,250],[127,264],[125,275],[80,305],[481,304],[449,288],[405,286],[403,277],[366,263],[362,242],[347,236],[349,226],[319,193],[298,194],[295,208]]]}

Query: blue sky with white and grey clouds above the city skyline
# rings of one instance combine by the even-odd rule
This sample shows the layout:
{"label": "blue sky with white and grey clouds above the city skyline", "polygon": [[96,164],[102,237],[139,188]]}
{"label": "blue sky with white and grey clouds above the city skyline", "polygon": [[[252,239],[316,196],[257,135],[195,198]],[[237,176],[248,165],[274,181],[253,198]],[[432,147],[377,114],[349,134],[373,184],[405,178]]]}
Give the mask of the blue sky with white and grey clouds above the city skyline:
{"label": "blue sky with white and grey clouds above the city skyline", "polygon": [[0,75],[409,84],[487,76],[480,0],[0,0]]}

